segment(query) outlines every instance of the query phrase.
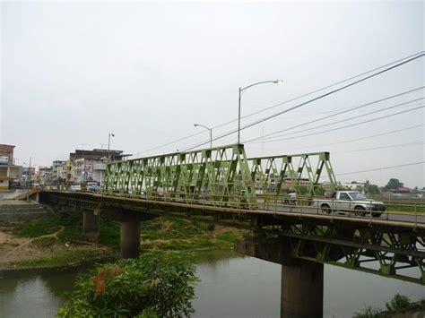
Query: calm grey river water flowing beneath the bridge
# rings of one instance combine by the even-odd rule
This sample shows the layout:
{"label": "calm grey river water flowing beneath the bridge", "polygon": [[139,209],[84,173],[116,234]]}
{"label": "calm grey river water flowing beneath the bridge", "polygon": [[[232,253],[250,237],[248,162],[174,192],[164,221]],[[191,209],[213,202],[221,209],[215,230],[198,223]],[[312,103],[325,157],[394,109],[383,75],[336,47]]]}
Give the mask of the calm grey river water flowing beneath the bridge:
{"label": "calm grey river water flowing beneath the bridge", "polygon": [[[195,317],[279,317],[281,266],[225,251],[204,252],[200,259]],[[55,316],[77,272],[0,277],[0,317]],[[325,265],[324,289],[325,317],[351,317],[365,305],[384,309],[396,293],[412,300],[425,296],[425,288],[417,284],[330,265]]]}

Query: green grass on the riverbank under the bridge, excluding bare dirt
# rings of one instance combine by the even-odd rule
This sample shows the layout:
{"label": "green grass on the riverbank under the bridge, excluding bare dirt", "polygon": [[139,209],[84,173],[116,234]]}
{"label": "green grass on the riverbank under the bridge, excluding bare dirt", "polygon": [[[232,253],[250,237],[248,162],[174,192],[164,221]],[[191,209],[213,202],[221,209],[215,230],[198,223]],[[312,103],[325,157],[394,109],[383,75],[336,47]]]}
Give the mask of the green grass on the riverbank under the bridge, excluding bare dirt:
{"label": "green grass on the riverbank under the bridge, excluding bare dirt", "polygon": [[[56,233],[56,236],[46,236]],[[216,227],[198,219],[161,217],[141,223],[142,252],[153,249],[161,251],[186,251],[205,249],[230,249],[246,235],[247,231]],[[109,252],[96,248],[76,248],[82,241],[82,214],[52,212],[41,219],[32,220],[15,228],[17,236],[31,237],[33,244],[54,251],[52,257],[13,262],[16,267],[56,267],[112,257],[119,249],[119,222],[100,218],[100,245],[108,246]],[[39,237],[42,236],[42,237]],[[43,237],[44,236],[44,237]],[[64,245],[71,243],[64,250]],[[56,245],[56,248],[54,247]],[[94,246],[93,246],[94,247]]]}

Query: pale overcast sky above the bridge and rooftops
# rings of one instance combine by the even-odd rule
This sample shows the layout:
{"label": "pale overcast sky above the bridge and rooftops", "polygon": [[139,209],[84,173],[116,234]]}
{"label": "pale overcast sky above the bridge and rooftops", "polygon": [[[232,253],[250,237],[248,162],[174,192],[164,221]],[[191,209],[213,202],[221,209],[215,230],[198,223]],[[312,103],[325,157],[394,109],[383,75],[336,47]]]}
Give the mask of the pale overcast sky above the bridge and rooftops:
{"label": "pale overcast sky above the bridge and rooftops", "polygon": [[[239,87],[284,81],[246,90],[246,116],[424,50],[421,1],[0,5],[0,142],[16,145],[18,164],[28,164],[31,157],[33,164],[46,166],[75,149],[107,148],[108,133],[115,133],[112,149],[137,157],[184,150],[209,139],[194,123],[216,126],[238,118]],[[421,58],[276,116],[243,130],[241,141],[419,88],[424,65]],[[242,125],[315,96],[249,116]],[[317,132],[421,107],[424,100],[330,125],[423,97],[419,90],[291,129],[280,137],[285,140],[246,143],[247,156],[328,150],[337,175],[422,162],[423,108]],[[195,133],[201,134],[151,150]],[[236,133],[213,143],[234,142]],[[396,177],[422,187],[424,171],[421,164],[337,179],[386,185]]]}

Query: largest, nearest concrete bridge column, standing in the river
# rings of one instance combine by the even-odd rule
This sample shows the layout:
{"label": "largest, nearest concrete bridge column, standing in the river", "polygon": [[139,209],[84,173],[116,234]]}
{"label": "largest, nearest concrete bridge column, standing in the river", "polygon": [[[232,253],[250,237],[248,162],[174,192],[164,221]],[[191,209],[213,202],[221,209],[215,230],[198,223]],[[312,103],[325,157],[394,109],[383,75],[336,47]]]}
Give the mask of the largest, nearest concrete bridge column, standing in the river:
{"label": "largest, nearest concrete bridge column, standing in the river", "polygon": [[323,264],[282,265],[281,318],[323,317]]}

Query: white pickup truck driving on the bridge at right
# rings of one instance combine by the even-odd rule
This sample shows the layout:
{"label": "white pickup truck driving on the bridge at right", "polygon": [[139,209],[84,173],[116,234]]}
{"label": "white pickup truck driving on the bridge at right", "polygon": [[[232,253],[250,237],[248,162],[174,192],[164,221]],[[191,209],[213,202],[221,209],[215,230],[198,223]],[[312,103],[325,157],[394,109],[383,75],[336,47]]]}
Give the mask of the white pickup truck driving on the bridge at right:
{"label": "white pickup truck driving on the bridge at right", "polygon": [[368,199],[363,193],[356,191],[337,191],[330,199],[315,199],[313,205],[318,206],[322,212],[354,212],[355,215],[365,216],[372,212],[372,216],[379,218],[386,211],[384,202]]}

